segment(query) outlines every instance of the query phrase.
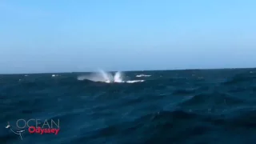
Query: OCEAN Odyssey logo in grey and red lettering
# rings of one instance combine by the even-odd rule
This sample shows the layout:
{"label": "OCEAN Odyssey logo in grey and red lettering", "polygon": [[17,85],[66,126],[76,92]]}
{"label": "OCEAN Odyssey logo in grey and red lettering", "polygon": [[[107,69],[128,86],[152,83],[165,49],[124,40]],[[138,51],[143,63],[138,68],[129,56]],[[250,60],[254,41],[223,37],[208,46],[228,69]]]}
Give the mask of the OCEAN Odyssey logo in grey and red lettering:
{"label": "OCEAN Odyssey logo in grey and red lettering", "polygon": [[6,129],[10,129],[11,132],[14,134],[19,135],[22,139],[22,134],[28,131],[30,134],[55,134],[57,135],[60,126],[59,126],[59,119],[18,119],[14,126],[10,125],[10,122],[7,122]]}

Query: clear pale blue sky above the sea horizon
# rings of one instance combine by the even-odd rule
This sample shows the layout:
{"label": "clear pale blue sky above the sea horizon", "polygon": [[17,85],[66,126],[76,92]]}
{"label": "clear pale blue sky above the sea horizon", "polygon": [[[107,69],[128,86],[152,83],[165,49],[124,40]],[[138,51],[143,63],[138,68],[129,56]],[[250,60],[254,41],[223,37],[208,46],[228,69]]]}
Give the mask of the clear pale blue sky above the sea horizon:
{"label": "clear pale blue sky above the sea horizon", "polygon": [[1,0],[0,73],[256,67],[254,0]]}

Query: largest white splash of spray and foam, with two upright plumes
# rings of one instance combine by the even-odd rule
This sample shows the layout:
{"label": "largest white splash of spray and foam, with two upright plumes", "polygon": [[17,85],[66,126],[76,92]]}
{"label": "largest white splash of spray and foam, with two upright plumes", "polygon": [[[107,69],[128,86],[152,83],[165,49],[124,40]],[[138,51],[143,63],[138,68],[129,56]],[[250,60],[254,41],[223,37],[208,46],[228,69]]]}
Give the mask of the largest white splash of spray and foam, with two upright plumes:
{"label": "largest white splash of spray and foam, with two upright plumes", "polygon": [[78,80],[90,80],[93,82],[106,82],[106,83],[112,83],[112,82],[127,82],[127,83],[134,83],[134,82],[144,82],[144,80],[128,80],[124,81],[123,80],[123,74],[121,71],[118,71],[114,74],[114,76],[106,72],[104,70],[98,70],[98,72],[89,74],[89,75],[80,75],[78,76]]}

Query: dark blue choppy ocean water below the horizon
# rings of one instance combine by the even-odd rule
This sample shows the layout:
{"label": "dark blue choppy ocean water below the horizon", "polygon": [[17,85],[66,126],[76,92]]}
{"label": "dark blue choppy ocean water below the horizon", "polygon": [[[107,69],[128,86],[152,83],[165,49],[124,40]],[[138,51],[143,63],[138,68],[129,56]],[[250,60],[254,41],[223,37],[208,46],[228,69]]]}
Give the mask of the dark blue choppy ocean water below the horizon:
{"label": "dark blue choppy ocean water below the horizon", "polygon": [[[0,143],[256,143],[256,69],[123,72],[117,82],[91,78],[0,75]],[[59,133],[26,130],[21,139],[6,128],[21,118],[59,119]]]}

